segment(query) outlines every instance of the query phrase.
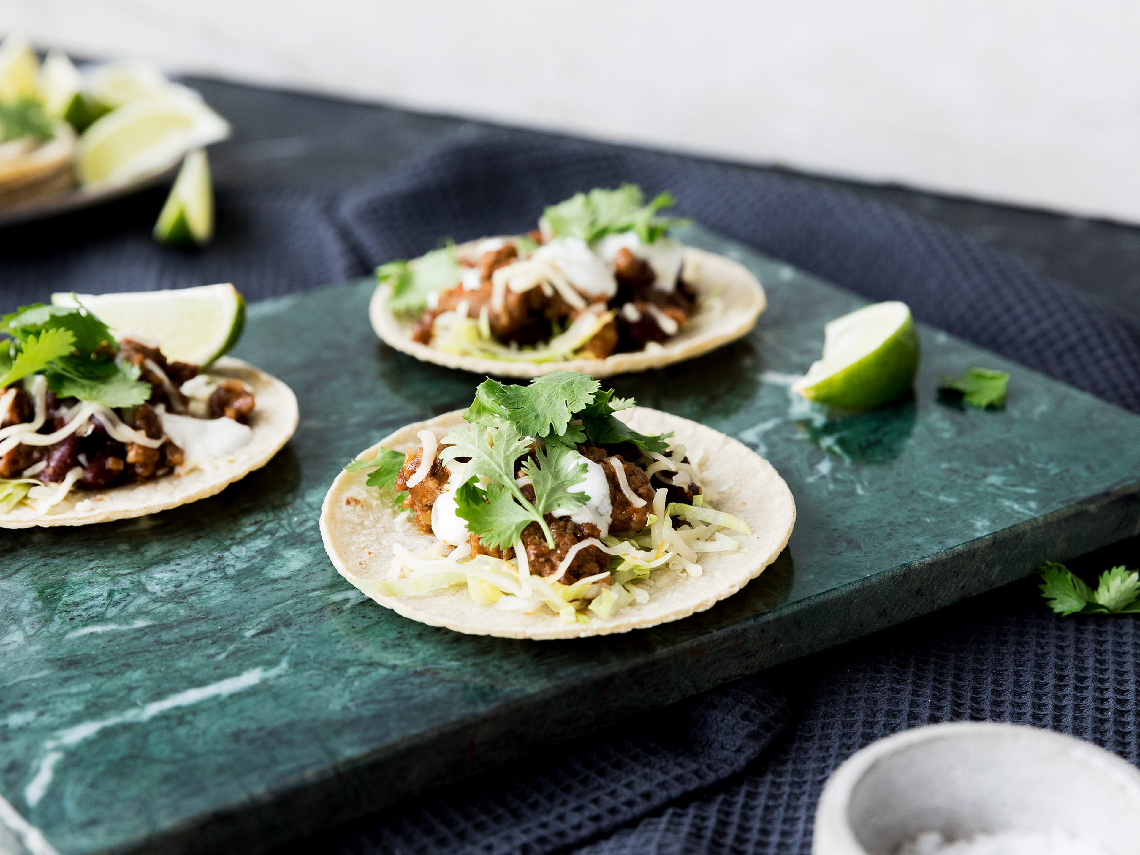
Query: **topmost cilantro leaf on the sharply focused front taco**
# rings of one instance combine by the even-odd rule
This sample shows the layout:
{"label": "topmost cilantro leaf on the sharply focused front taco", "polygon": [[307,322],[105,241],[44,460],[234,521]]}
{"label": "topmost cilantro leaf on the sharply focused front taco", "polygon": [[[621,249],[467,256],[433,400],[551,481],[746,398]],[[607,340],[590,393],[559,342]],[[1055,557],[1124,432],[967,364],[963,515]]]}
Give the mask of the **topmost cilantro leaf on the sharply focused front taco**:
{"label": "topmost cilantro leaf on the sharply focused front taco", "polygon": [[486,380],[464,417],[480,424],[506,420],[527,437],[563,437],[573,414],[594,400],[601,385],[578,372],[554,372],[526,386]]}

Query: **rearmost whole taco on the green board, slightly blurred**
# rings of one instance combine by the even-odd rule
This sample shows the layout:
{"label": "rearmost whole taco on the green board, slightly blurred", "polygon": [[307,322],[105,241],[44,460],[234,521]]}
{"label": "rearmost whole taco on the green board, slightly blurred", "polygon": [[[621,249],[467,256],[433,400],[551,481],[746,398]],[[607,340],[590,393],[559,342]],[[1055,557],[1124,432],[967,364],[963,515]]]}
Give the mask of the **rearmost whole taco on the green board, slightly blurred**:
{"label": "rearmost whole taco on the green board, slightly blurred", "polygon": [[663,193],[594,189],[527,235],[449,244],[377,269],[373,328],[417,359],[481,374],[593,376],[658,368],[746,335],[764,288],[742,264],[681,244]]}

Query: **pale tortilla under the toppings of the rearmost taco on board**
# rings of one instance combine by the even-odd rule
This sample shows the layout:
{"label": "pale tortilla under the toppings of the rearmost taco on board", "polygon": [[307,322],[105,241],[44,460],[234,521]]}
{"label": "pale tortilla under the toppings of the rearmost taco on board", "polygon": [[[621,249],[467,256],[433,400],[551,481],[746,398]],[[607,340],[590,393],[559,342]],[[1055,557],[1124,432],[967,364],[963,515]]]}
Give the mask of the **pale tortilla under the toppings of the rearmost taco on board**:
{"label": "pale tortilla under the toppings of the rearmost taco on board", "polygon": [[[461,251],[471,246],[464,244]],[[718,311],[699,311],[687,326],[659,348],[614,353],[605,359],[569,359],[562,363],[523,363],[445,353],[412,341],[414,320],[397,318],[388,308],[389,286],[377,287],[368,306],[372,328],[386,344],[425,363],[505,377],[538,377],[551,372],[573,370],[595,377],[643,372],[693,359],[747,335],[767,307],[764,288],[748,268],[724,255],[685,247],[685,282],[699,296],[717,295]]]}

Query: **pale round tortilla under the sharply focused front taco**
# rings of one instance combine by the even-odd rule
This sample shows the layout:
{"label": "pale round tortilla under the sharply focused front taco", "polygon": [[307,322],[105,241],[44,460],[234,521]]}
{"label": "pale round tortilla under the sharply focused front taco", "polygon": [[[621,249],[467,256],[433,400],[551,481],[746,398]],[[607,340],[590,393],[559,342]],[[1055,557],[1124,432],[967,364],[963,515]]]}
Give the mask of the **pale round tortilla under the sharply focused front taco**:
{"label": "pale round tortilla under the sharply focused front taco", "polygon": [[[620,414],[643,433],[674,431],[689,449],[700,457],[705,483],[717,495],[715,506],[744,520],[751,536],[730,532],[740,540],[734,553],[701,555],[702,576],[690,577],[674,570],[654,570],[644,587],[648,603],[634,603],[613,618],[593,617],[588,625],[563,624],[557,614],[543,606],[532,614],[480,605],[466,588],[423,596],[393,597],[380,594],[375,581],[388,578],[392,544],[422,548],[435,538],[418,534],[392,508],[391,499],[367,487],[367,472],[342,472],[333,481],[320,508],[320,535],[336,570],[357,588],[406,618],[431,626],[447,627],[471,635],[497,635],[503,638],[581,638],[588,635],[627,633],[657,626],[705,611],[719,600],[740,591],[759,576],[788,544],[796,521],[791,490],[772,464],[731,437],[687,418],[637,407]],[[450,427],[463,424],[459,410],[430,422],[401,427],[363,455],[375,456],[380,448],[407,450],[416,432],[430,429],[443,437]]]}

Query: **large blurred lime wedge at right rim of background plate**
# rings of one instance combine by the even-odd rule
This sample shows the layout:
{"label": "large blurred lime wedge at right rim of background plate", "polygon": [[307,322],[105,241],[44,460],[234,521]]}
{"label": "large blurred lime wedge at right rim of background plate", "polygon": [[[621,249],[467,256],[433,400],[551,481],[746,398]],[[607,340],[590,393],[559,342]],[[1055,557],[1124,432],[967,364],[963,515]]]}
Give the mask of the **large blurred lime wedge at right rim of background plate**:
{"label": "large blurred lime wedge at right rim of background plate", "polygon": [[229,130],[201,98],[168,91],[97,120],[79,138],[75,164],[85,185],[125,184],[162,172],[190,149],[225,139]]}

